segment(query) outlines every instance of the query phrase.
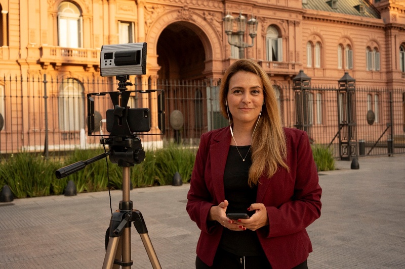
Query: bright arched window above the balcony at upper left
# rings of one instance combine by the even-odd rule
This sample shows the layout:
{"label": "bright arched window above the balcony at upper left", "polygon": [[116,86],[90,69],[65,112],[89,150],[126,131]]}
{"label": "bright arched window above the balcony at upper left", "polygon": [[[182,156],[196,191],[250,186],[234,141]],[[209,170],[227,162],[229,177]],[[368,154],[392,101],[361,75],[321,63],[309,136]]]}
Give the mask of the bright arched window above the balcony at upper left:
{"label": "bright arched window above the balcony at upper left", "polygon": [[82,16],[70,2],[62,2],[58,7],[58,37],[61,47],[82,47]]}

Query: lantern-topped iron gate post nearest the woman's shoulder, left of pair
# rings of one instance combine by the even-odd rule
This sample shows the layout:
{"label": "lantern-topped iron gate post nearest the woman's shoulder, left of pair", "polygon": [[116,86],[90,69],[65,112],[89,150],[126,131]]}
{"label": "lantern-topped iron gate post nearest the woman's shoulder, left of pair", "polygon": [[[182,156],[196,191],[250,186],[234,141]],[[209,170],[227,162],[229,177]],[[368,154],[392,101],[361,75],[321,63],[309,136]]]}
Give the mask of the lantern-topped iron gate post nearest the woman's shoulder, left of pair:
{"label": "lantern-topped iron gate post nearest the woman's shoulder, left of pair", "polygon": [[293,90],[295,99],[296,124],[295,128],[306,131],[311,138],[310,112],[308,111],[309,90],[311,89],[311,78],[303,70],[293,78]]}

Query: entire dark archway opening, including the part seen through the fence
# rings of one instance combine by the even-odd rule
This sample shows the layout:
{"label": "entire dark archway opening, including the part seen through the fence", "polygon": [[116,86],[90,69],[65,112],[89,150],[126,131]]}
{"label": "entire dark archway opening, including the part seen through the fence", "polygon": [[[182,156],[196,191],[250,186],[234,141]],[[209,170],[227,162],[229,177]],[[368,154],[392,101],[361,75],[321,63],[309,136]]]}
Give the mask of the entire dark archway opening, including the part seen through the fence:
{"label": "entire dark archway opening, including the part seen through the fence", "polygon": [[201,29],[190,22],[174,22],[161,32],[156,46],[157,84],[166,90],[166,113],[180,112],[184,118],[179,130],[170,122],[166,125],[167,137],[191,144],[207,131],[206,48],[201,40],[204,36],[197,33]]}

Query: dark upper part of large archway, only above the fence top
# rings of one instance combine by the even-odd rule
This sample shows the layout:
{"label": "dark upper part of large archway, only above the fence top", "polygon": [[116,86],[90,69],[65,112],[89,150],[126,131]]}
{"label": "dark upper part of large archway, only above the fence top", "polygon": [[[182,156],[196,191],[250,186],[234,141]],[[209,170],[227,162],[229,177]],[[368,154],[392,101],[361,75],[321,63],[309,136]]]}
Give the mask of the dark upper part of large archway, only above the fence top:
{"label": "dark upper part of large archway, only above the fence top", "polygon": [[195,25],[174,22],[159,35],[156,52],[159,80],[204,79],[206,53]]}

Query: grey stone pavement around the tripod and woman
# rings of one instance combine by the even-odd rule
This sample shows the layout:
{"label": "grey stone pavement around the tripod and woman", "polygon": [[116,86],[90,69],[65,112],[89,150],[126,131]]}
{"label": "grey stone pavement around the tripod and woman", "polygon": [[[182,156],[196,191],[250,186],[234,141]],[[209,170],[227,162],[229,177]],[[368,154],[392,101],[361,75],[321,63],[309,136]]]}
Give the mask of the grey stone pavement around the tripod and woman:
{"label": "grey stone pavement around the tripod and woman", "polygon": [[[405,268],[405,155],[338,161],[320,172],[320,219],[308,227],[309,268]],[[57,179],[55,179],[57,180]],[[194,268],[199,230],[185,210],[189,184],[131,191],[161,266]],[[112,208],[121,191],[112,191]],[[0,203],[0,268],[101,268],[108,192]],[[152,268],[135,228],[132,268]]]}

